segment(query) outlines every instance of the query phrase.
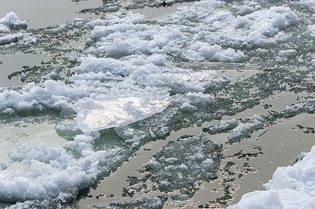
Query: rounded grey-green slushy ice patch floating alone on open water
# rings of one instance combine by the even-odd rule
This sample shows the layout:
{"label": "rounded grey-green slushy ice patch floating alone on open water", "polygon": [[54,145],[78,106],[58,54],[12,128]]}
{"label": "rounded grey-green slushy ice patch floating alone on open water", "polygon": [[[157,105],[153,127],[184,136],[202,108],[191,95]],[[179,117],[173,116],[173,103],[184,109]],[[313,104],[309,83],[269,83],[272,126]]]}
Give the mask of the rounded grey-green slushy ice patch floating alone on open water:
{"label": "rounded grey-green slushy ice patch floating alone on open water", "polygon": [[[161,192],[180,189],[187,198],[196,192],[194,185],[217,177],[220,147],[203,134],[170,141],[146,164],[151,180]],[[176,198],[176,197],[174,197]]]}

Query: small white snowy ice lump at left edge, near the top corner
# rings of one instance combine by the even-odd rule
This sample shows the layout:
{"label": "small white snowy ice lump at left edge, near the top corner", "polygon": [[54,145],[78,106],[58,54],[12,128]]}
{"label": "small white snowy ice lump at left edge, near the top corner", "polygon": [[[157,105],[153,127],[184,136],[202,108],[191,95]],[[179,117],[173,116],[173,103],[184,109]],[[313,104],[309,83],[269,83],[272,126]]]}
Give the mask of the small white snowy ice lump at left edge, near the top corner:
{"label": "small white snowy ice lump at left edge, near the top corner", "polygon": [[0,19],[0,33],[8,33],[11,29],[26,28],[26,21],[21,21],[17,14],[10,12]]}

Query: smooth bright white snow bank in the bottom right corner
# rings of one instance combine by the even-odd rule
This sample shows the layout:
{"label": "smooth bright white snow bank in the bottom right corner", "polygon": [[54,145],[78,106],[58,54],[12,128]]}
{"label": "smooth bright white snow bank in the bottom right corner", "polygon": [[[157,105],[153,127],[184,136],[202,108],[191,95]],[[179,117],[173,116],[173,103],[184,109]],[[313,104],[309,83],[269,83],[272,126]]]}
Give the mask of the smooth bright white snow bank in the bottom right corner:
{"label": "smooth bright white snow bank in the bottom right corner", "polygon": [[264,185],[267,191],[244,194],[239,203],[228,208],[315,208],[315,146],[303,154],[293,166],[277,168]]}

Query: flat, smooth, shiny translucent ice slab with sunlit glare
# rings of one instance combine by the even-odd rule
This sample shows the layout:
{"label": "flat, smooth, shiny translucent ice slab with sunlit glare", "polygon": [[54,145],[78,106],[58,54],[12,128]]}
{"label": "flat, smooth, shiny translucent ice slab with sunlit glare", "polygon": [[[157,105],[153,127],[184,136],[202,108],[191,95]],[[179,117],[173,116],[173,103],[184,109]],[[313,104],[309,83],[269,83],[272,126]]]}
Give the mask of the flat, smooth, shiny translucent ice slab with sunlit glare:
{"label": "flat, smooth, shiny translucent ice slab with sunlit glare", "polygon": [[163,111],[169,105],[168,93],[151,90],[143,95],[135,93],[126,97],[77,102],[74,109],[77,111],[79,128],[83,132],[102,130],[139,121]]}

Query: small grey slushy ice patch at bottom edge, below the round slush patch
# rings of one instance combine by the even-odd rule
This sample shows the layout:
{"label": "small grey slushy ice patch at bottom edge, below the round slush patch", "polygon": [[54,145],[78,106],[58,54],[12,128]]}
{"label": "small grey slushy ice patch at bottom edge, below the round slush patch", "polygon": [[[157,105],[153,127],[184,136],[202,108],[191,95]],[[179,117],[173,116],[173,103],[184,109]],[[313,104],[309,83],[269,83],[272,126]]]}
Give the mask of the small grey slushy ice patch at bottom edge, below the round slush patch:
{"label": "small grey slushy ice patch at bottom edge, below the round slush patch", "polygon": [[168,197],[166,195],[164,196],[141,196],[140,198],[136,199],[135,201],[130,202],[118,202],[113,201],[109,204],[107,207],[101,207],[100,209],[116,209],[116,208],[145,208],[145,209],[151,209],[151,208],[163,208],[164,202],[167,201]]}

